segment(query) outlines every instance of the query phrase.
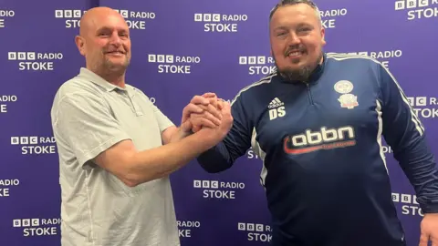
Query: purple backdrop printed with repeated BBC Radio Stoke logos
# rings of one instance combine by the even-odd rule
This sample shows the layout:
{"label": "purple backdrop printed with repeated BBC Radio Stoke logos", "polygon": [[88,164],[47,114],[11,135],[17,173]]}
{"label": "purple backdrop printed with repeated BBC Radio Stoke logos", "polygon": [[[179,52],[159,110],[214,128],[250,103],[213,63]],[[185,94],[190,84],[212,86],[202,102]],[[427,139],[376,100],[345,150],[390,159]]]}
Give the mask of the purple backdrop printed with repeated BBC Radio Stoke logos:
{"label": "purple backdrop printed with repeated BBC Radio Stoke logos", "polygon": [[[0,0],[0,245],[59,245],[60,190],[50,108],[57,88],[85,65],[74,43],[84,11],[98,4],[120,11],[132,39],[127,82],[179,125],[194,95],[215,92],[231,100],[275,67],[268,15],[276,2]],[[326,28],[325,50],[372,56],[389,67],[438,155],[432,141],[438,133],[432,57],[438,53],[438,2],[316,3]],[[422,210],[391,148],[384,145],[383,151],[406,240],[418,245]],[[222,173],[208,174],[193,160],[172,174],[182,245],[268,245],[270,216],[261,169],[261,160],[248,149]]]}

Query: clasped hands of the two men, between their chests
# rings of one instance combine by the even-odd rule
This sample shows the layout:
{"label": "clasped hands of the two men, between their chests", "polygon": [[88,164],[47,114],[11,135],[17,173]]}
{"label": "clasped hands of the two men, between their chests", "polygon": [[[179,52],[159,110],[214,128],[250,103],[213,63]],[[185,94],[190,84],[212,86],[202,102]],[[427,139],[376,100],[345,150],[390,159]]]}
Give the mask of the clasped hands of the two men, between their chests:
{"label": "clasped hands of the two men, between their chests", "polygon": [[200,132],[214,143],[221,141],[233,126],[231,106],[214,93],[194,96],[183,109],[181,130],[185,136]]}

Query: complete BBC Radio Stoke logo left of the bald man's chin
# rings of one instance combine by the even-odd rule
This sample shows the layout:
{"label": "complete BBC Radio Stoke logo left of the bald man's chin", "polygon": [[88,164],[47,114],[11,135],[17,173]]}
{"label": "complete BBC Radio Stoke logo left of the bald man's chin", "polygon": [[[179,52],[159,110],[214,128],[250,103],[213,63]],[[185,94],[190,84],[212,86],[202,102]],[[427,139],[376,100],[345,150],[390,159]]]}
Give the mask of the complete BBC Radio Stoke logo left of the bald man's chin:
{"label": "complete BBC Radio Stoke logo left of the bald man's chin", "polygon": [[7,59],[18,62],[19,70],[53,71],[54,61],[62,60],[62,53],[8,52]]}

